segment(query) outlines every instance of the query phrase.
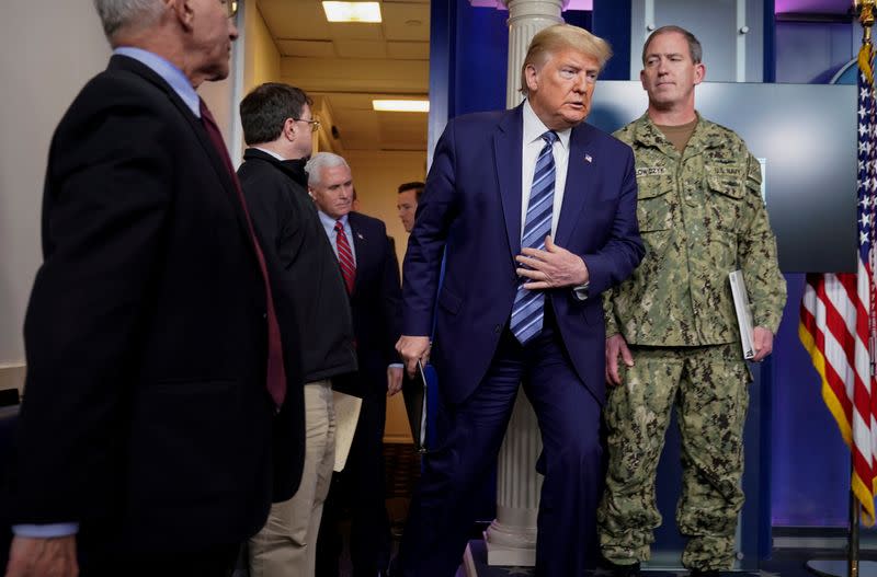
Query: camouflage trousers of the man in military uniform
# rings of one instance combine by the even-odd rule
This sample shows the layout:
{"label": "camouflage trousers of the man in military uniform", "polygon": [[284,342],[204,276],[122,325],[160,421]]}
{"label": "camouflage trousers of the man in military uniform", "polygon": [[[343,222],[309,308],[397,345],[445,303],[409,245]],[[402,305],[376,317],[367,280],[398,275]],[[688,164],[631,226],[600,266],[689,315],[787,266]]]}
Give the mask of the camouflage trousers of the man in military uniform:
{"label": "camouflage trousers of the man in military uniform", "polygon": [[654,475],[675,404],[683,468],[676,523],[690,538],[682,564],[728,569],[743,506],[750,374],[740,346],[630,350],[635,366],[622,369],[623,385],[610,386],[604,408],[610,464],[597,510],[601,551],[619,565],[649,558],[661,524]]}

